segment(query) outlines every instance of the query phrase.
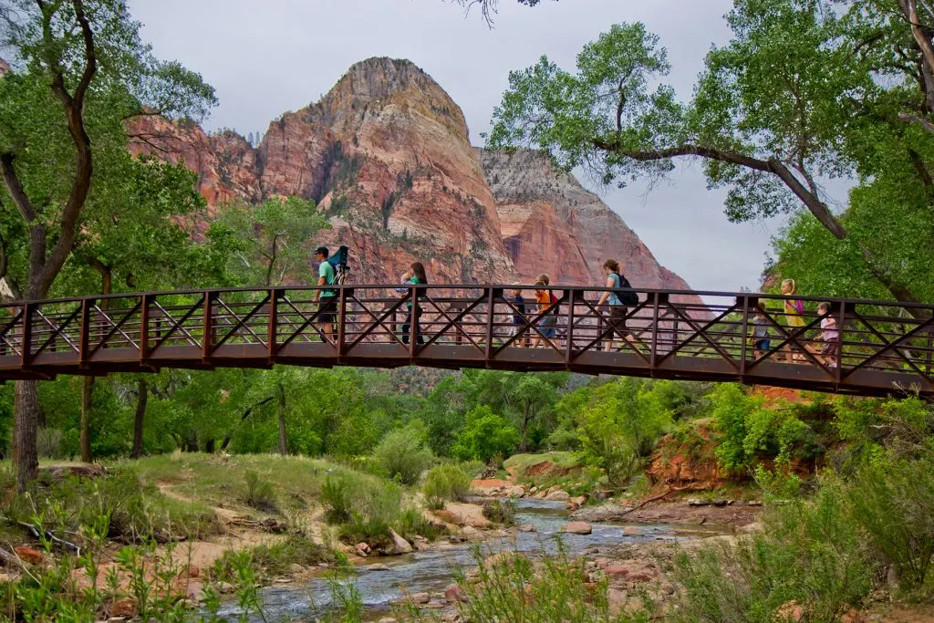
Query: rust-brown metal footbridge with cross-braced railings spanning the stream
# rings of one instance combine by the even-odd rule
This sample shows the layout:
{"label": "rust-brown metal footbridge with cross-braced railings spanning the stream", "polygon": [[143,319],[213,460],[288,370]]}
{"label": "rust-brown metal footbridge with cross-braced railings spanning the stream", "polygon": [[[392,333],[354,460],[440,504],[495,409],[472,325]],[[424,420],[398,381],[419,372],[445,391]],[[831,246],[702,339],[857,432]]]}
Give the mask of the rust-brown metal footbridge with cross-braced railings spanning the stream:
{"label": "rust-brown metal footbridge with cross-braced railings spanning the stream", "polygon": [[[637,290],[628,340],[613,330],[605,289],[555,287],[554,314],[514,324],[512,286],[336,287],[340,311],[326,337],[318,288],[185,290],[0,305],[0,381],[55,375],[155,372],[161,368],[316,367],[570,370],[688,380],[740,381],[863,395],[934,395],[934,306],[828,300],[841,328],[822,354],[817,299],[803,326],[789,326],[786,297]],[[698,303],[700,296],[703,303]],[[405,326],[409,304],[419,329]],[[771,344],[754,350],[757,311]],[[557,332],[546,340],[544,319]],[[404,329],[404,331],[403,331]],[[420,339],[419,339],[420,338]],[[540,347],[522,341],[541,338]]]}

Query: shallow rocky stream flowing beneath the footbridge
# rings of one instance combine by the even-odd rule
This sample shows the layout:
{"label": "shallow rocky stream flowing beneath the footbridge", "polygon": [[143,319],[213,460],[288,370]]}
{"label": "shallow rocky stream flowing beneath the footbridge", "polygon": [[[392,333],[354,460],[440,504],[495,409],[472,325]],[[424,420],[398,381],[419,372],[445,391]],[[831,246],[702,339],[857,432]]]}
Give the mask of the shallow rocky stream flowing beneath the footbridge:
{"label": "shallow rocky stream flowing beneath the footbridge", "polygon": [[[565,503],[545,500],[517,500],[517,525],[531,524],[536,531],[515,531],[508,536],[493,536],[484,541],[484,551],[511,550],[519,552],[554,553],[553,536],[568,522]],[[590,547],[601,549],[610,545],[633,544],[655,540],[675,540],[686,534],[684,527],[677,532],[671,526],[640,525],[641,536],[623,534],[626,524],[592,523],[590,534],[560,533],[562,542],[571,554],[579,554]],[[705,528],[707,528],[705,526]],[[475,544],[446,544],[427,551],[402,556],[370,559],[357,565],[354,577],[343,579],[341,585],[353,584],[360,593],[368,615],[385,614],[390,603],[403,594],[429,592],[442,593],[453,581],[459,569],[475,566]],[[388,569],[387,569],[388,568]],[[262,590],[266,617],[270,621],[281,619],[314,620],[316,613],[327,611],[333,602],[333,589],[327,578],[319,577],[304,585],[279,585]],[[221,611],[222,616],[236,616],[235,604]]]}

